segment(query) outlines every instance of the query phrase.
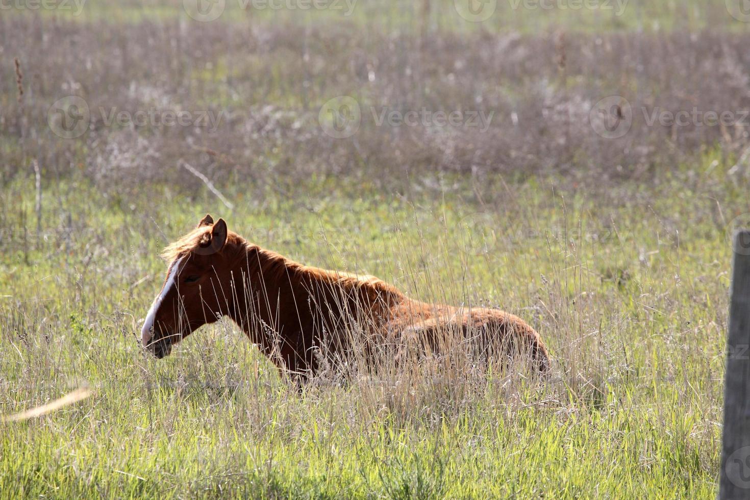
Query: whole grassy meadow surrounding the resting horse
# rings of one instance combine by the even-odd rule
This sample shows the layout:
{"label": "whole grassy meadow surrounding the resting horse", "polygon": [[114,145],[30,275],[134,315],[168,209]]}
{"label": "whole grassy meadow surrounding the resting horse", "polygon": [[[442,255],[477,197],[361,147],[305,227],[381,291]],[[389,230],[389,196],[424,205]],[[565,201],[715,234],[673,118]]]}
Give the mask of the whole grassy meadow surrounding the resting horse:
{"label": "whole grassy meadow surrounding the resting horse", "polygon": [[[1,13],[0,415],[91,395],[0,423],[0,497],[715,496],[747,23],[697,1],[489,23],[401,5]],[[49,110],[71,95],[89,115],[66,139]],[[589,112],[613,95],[622,136]],[[336,139],[320,109],[340,96],[361,119]],[[377,122],[422,108],[493,118]],[[694,108],[737,119],[646,119]],[[221,118],[109,118],[151,110]],[[156,360],[138,337],[158,255],[205,213],[306,264],[515,313],[552,373],[298,393],[229,321]]]}

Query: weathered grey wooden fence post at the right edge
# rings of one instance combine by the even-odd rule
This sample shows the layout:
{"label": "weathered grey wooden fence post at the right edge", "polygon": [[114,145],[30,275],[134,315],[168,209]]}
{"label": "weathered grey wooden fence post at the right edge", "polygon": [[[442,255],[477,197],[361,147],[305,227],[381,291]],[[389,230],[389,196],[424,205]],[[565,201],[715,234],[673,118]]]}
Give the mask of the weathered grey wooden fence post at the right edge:
{"label": "weathered grey wooden fence post at the right edge", "polygon": [[750,230],[733,240],[718,498],[750,498]]}

